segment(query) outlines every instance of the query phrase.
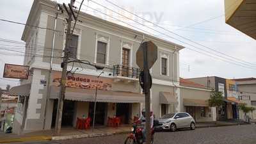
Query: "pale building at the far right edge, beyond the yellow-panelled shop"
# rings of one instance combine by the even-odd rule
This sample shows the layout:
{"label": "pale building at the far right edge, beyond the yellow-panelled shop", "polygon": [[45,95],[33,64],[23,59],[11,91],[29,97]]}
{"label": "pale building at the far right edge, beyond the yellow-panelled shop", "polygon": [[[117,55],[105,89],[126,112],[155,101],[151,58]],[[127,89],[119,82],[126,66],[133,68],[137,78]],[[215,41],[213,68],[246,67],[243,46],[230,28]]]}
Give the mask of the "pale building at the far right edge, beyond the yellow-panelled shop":
{"label": "pale building at the far right edge, beyond the yellow-panelled shop", "polygon": [[[233,79],[236,81],[237,92],[239,93],[239,102],[245,103],[246,106],[256,108],[256,78]],[[256,119],[256,111],[248,113],[250,118]],[[243,111],[239,111],[239,118],[244,120]]]}

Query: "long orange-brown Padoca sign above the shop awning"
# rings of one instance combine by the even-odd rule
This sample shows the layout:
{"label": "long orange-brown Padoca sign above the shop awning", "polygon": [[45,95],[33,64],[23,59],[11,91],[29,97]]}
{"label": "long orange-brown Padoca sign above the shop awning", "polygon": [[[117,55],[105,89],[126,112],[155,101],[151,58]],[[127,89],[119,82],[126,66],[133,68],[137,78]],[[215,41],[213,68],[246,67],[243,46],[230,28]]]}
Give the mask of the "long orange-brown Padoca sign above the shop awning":
{"label": "long orange-brown Padoca sign above the shop awning", "polygon": [[[69,88],[84,88],[84,89],[95,89],[98,90],[111,90],[113,80],[106,77],[96,77],[81,74],[74,74],[74,76],[67,77],[66,86]],[[61,73],[54,72],[52,74],[52,84],[54,86],[60,86],[61,84]]]}

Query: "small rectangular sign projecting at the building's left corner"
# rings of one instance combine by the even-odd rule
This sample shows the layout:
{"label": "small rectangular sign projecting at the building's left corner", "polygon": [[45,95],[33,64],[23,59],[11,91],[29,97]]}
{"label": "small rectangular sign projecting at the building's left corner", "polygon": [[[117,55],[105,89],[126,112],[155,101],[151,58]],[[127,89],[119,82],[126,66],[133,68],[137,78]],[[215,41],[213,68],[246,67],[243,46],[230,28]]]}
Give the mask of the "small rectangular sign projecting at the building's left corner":
{"label": "small rectangular sign projecting at the building's left corner", "polygon": [[28,79],[29,67],[23,65],[4,65],[4,76],[6,78],[13,79]]}

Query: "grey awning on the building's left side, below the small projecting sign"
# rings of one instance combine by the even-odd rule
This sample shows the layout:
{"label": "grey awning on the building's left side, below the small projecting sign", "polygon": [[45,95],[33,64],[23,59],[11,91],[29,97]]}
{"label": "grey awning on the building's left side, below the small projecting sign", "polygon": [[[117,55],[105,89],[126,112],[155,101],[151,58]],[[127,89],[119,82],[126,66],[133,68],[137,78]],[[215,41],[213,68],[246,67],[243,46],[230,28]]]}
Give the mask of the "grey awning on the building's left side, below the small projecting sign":
{"label": "grey awning on the building's left side, below the small projecting sign", "polygon": [[14,86],[10,90],[10,95],[28,97],[30,93],[30,86],[30,83],[22,84],[20,86]]}

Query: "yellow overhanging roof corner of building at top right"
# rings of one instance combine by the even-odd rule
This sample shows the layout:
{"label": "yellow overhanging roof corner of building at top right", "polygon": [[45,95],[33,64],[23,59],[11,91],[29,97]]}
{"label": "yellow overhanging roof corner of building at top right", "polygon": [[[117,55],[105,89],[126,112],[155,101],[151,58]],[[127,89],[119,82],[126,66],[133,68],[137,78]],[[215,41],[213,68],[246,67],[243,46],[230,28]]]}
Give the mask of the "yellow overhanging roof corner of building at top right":
{"label": "yellow overhanging roof corner of building at top right", "polygon": [[256,3],[252,0],[225,0],[225,20],[230,26],[256,39]]}

